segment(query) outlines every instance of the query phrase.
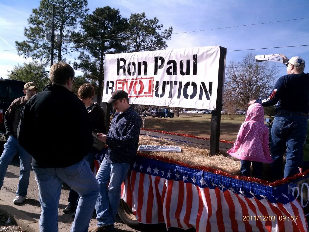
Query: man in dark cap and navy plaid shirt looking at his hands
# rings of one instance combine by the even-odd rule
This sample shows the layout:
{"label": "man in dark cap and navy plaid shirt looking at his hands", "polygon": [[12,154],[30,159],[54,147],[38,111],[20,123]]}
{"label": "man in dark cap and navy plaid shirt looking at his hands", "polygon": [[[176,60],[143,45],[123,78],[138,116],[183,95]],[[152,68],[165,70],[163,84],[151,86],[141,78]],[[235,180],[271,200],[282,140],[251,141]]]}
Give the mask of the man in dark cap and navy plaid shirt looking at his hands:
{"label": "man in dark cap and navy plaid shirt looking at his hands", "polygon": [[118,212],[121,184],[138,149],[141,117],[129,105],[128,93],[116,90],[107,103],[113,103],[115,114],[108,135],[98,133],[98,138],[108,145],[108,153],[96,175],[101,187],[95,204],[97,226],[89,232],[112,231]]}

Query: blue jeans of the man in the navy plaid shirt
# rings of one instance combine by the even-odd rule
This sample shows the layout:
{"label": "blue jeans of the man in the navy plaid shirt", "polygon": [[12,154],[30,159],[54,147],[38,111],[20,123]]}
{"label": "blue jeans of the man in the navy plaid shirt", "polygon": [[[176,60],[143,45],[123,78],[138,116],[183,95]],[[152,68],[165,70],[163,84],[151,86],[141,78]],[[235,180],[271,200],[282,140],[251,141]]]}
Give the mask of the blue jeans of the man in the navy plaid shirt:
{"label": "blue jeans of the man in the navy plaid shirt", "polygon": [[97,226],[108,226],[115,223],[115,216],[118,213],[120,203],[121,184],[125,180],[129,168],[128,163],[102,161],[96,175],[101,188],[95,204]]}

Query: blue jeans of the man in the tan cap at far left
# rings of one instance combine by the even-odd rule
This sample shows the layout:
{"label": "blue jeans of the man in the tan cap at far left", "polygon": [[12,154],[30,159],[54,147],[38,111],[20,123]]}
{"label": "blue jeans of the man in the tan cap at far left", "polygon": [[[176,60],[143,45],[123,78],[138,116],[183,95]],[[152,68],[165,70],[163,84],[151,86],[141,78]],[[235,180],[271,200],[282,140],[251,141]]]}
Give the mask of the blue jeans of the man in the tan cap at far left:
{"label": "blue jeans of the man in the tan cap at far left", "polygon": [[16,194],[25,197],[27,195],[29,185],[31,156],[18,144],[18,141],[14,136],[9,136],[8,140],[4,144],[4,151],[0,157],[0,189],[3,185],[7,167],[17,153],[19,154],[20,173]]}

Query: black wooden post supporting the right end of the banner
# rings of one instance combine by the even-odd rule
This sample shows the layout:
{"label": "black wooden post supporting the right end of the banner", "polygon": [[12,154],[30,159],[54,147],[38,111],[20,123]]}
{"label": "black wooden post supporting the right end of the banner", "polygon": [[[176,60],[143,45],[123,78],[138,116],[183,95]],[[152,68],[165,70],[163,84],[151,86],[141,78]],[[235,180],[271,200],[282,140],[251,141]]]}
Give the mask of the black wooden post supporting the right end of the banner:
{"label": "black wooden post supporting the right end of the banner", "polygon": [[222,111],[222,93],[223,93],[223,84],[224,84],[225,60],[226,60],[226,48],[220,47],[217,103],[216,103],[216,110],[213,110],[211,113],[210,155],[215,155],[219,153],[220,123],[221,123],[221,111]]}

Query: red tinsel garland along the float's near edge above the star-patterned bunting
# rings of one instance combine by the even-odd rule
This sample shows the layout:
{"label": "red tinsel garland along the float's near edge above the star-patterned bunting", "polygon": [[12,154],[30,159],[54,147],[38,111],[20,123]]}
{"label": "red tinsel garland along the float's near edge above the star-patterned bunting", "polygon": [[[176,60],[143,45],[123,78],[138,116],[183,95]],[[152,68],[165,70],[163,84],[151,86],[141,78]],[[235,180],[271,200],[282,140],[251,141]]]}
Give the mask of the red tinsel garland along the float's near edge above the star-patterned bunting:
{"label": "red tinsel garland along the float's near edge above the star-patterned bunting", "polygon": [[[108,145],[105,144],[104,148],[108,148]],[[176,164],[176,165],[181,165],[187,168],[192,168],[192,169],[197,169],[197,170],[202,170],[205,172],[210,172],[210,173],[214,173],[214,174],[218,174],[218,175],[222,175],[222,176],[226,176],[226,177],[230,177],[230,178],[234,178],[234,179],[239,179],[239,180],[244,180],[244,181],[248,181],[248,182],[254,182],[254,183],[258,183],[258,184],[262,184],[262,185],[267,185],[267,186],[272,186],[272,187],[276,187],[282,184],[286,184],[286,183],[290,183],[298,178],[302,178],[304,176],[309,175],[309,170],[303,172],[303,173],[299,173],[296,174],[292,177],[287,177],[287,178],[283,178],[280,180],[276,180],[274,182],[269,182],[267,180],[261,180],[255,177],[247,177],[247,176],[234,176],[231,175],[225,171],[222,170],[218,170],[212,167],[207,167],[207,166],[203,166],[203,165],[189,165],[187,163],[184,162],[180,162],[180,161],[176,161],[170,158],[166,158],[166,157],[154,157],[150,154],[146,154],[146,153],[142,153],[142,152],[137,152],[137,155],[140,157],[145,157],[145,158],[149,158],[149,159],[154,159],[157,161],[162,161],[162,162],[166,162],[166,163],[172,163],[172,164]]]}

